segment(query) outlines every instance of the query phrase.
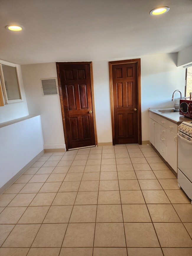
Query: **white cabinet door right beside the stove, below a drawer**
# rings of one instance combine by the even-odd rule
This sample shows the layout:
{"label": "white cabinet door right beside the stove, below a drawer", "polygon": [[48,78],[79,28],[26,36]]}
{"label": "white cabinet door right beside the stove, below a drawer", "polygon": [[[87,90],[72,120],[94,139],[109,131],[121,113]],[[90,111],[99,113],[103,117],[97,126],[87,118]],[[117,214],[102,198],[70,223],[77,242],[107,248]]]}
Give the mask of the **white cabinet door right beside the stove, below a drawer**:
{"label": "white cabinet door right beside the stove, below a drawer", "polygon": [[177,172],[177,135],[167,129],[167,163]]}

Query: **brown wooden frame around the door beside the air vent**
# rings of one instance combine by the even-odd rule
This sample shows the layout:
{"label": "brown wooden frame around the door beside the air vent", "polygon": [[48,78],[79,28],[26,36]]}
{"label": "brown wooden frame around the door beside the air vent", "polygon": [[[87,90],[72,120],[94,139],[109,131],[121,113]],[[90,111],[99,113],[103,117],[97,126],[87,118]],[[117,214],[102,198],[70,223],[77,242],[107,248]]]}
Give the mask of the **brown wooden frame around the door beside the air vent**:
{"label": "brown wooden frame around the door beside the air vent", "polygon": [[94,135],[95,135],[95,146],[97,146],[97,128],[96,128],[96,118],[95,118],[95,98],[94,98],[94,86],[93,86],[92,61],[56,62],[58,90],[59,90],[59,98],[60,98],[60,104],[61,104],[61,115],[62,115],[62,121],[63,121],[63,131],[64,131],[66,151],[68,151],[69,148],[68,148],[68,141],[67,141],[67,131],[66,131],[66,124],[65,124],[65,113],[64,113],[63,96],[62,96],[62,90],[61,90],[61,78],[60,78],[60,73],[59,73],[59,65],[87,65],[87,64],[90,67],[91,96],[92,96],[92,108],[93,108],[93,126],[94,126]]}

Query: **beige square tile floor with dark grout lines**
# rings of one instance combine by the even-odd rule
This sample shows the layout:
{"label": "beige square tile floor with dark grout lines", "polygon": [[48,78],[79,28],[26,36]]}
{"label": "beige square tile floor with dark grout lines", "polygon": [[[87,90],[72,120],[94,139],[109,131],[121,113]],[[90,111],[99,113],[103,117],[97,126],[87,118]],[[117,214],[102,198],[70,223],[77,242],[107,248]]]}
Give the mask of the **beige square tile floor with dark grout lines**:
{"label": "beige square tile floor with dark grout lines", "polygon": [[151,146],[45,153],[0,196],[3,256],[190,256],[192,205]]}

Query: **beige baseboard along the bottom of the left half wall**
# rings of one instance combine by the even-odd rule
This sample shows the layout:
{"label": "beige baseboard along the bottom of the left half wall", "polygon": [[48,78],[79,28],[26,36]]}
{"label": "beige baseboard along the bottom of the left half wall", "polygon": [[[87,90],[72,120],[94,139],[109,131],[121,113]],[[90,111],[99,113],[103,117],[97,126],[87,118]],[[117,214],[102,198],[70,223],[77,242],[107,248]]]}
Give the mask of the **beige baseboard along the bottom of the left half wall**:
{"label": "beige baseboard along the bottom of the left half wall", "polygon": [[32,164],[34,164],[37,159],[40,158],[44,154],[44,150],[42,150],[37,156],[35,156],[28,164],[26,164],[19,172],[16,173],[8,182],[6,182],[1,188],[0,188],[0,195],[8,189],[27,169],[29,169]]}

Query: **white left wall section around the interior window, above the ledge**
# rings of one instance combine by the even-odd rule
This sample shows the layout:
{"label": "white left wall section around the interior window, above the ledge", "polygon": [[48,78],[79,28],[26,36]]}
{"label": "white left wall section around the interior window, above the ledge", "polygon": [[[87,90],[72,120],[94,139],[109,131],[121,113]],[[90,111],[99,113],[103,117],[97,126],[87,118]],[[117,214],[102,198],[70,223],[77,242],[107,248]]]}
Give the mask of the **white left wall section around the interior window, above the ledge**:
{"label": "white left wall section around the interior window, above the ledge", "polygon": [[17,74],[18,74],[18,80],[20,84],[22,102],[7,104],[7,105],[4,105],[3,107],[0,107],[0,123],[4,123],[9,120],[13,120],[16,118],[29,115],[20,65],[17,65]]}

